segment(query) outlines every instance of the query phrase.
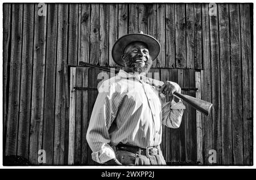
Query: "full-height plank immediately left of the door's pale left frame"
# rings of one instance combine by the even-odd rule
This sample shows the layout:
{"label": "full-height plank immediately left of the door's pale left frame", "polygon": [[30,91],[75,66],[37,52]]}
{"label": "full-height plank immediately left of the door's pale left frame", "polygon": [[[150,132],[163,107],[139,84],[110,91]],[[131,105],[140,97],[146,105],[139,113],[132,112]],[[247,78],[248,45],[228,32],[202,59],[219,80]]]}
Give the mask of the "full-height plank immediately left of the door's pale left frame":
{"label": "full-height plank immediately left of the door's pale left frame", "polygon": [[53,145],[53,165],[64,165],[65,149],[65,117],[67,97],[65,92],[65,65],[68,48],[68,4],[58,5],[57,27],[57,59],[56,59],[56,93],[55,93],[55,125]]}

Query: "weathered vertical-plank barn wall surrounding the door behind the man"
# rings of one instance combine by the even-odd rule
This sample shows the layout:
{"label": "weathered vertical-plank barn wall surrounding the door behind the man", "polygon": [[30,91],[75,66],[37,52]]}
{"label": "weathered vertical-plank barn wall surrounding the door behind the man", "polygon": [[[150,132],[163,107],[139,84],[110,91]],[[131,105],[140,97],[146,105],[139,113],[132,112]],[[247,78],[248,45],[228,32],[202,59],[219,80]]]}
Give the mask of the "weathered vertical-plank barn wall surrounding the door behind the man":
{"label": "weathered vertical-plank barn wall surrounding the door behind the man", "polygon": [[5,155],[36,165],[44,149],[46,165],[68,164],[69,67],[116,66],[115,40],[143,31],[162,46],[154,68],[200,72],[197,97],[214,105],[209,117],[196,119],[203,164],[253,164],[252,4],[49,3],[45,16],[39,10],[37,3],[3,4]]}

